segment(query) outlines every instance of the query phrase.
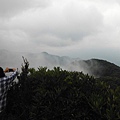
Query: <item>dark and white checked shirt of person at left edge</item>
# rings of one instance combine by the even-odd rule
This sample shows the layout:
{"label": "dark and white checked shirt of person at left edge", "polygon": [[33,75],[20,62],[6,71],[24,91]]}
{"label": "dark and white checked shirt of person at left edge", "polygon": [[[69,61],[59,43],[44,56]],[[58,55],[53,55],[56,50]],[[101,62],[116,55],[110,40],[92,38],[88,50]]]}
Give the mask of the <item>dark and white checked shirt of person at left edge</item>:
{"label": "dark and white checked shirt of person at left edge", "polygon": [[0,78],[0,112],[6,107],[7,91],[12,85],[13,80],[18,75],[18,72],[13,72],[10,76]]}

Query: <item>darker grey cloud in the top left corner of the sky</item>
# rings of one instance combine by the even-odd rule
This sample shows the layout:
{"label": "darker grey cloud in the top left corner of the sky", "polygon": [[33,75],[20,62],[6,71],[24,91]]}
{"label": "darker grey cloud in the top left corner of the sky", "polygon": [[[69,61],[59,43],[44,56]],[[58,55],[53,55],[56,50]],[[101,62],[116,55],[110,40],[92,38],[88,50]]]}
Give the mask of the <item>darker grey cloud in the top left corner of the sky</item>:
{"label": "darker grey cloud in the top left corner of the sky", "polygon": [[0,18],[9,18],[35,7],[46,7],[51,0],[0,0]]}

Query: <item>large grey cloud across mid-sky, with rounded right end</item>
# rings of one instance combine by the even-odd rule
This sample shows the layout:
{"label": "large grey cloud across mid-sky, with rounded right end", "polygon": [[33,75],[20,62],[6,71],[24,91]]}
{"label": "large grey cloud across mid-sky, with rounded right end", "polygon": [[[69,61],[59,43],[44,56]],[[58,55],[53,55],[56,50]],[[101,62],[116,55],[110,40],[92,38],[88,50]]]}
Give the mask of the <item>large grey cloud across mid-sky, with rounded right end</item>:
{"label": "large grey cloud across mid-sky, with rounded right end", "polygon": [[66,39],[82,40],[83,37],[96,34],[103,26],[103,16],[97,8],[93,6],[84,8],[81,4],[77,8],[70,4],[63,8],[53,6],[52,9],[46,8],[42,12],[38,9],[31,15],[16,18],[11,26],[25,31],[37,41],[43,34],[53,36],[53,38],[55,36],[63,42]]}

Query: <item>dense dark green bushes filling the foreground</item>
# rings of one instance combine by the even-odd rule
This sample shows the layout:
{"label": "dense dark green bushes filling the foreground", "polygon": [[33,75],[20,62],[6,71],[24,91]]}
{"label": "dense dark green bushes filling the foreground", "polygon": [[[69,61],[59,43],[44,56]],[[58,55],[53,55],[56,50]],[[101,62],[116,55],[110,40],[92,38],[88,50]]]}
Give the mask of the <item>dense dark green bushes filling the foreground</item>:
{"label": "dense dark green bushes filling the foreground", "polygon": [[[0,120],[119,120],[119,78],[94,78],[59,67],[28,69],[8,94]],[[29,74],[28,74],[29,72]]]}

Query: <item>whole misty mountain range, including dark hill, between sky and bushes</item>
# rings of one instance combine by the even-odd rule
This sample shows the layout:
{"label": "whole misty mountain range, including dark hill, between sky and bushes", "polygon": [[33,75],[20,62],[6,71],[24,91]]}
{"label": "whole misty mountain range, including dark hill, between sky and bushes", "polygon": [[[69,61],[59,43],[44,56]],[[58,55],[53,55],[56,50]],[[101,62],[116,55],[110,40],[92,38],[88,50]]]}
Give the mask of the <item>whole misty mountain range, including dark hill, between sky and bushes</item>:
{"label": "whole misty mountain range, including dark hill, between sky and bushes", "polygon": [[38,68],[39,66],[53,69],[61,67],[69,71],[82,71],[96,77],[112,76],[120,77],[120,67],[107,60],[91,58],[81,60],[80,58],[70,58],[68,56],[52,55],[47,52],[41,53],[24,53],[0,50],[0,65],[2,67],[21,67],[22,56],[28,59],[30,67]]}

